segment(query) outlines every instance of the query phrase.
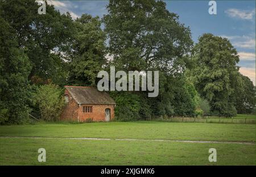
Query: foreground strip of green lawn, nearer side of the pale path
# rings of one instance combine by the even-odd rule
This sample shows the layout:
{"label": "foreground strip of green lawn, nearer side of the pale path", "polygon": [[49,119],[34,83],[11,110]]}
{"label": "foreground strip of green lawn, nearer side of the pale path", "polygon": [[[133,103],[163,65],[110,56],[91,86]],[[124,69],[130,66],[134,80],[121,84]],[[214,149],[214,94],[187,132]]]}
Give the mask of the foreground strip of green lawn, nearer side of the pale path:
{"label": "foreground strip of green lawn, nearer side of the pale path", "polygon": [[[37,161],[40,147],[46,163]],[[254,145],[17,138],[2,138],[0,149],[0,165],[255,165],[256,153]]]}

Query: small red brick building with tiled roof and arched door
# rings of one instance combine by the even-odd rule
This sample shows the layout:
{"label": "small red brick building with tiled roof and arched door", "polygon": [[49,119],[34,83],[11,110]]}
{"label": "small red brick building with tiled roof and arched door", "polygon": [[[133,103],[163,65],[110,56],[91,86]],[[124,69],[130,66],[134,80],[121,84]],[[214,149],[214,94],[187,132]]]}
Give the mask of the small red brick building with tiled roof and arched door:
{"label": "small red brick building with tiled roof and arched door", "polygon": [[61,120],[110,121],[114,119],[114,100],[95,87],[65,86],[65,106]]}

